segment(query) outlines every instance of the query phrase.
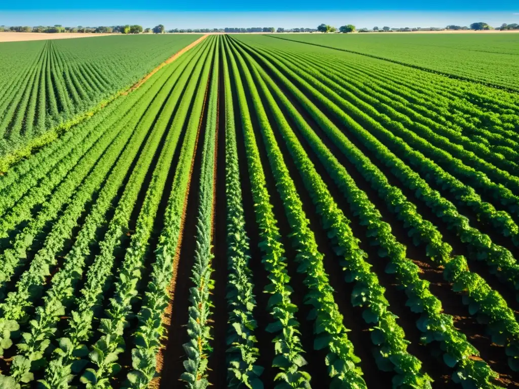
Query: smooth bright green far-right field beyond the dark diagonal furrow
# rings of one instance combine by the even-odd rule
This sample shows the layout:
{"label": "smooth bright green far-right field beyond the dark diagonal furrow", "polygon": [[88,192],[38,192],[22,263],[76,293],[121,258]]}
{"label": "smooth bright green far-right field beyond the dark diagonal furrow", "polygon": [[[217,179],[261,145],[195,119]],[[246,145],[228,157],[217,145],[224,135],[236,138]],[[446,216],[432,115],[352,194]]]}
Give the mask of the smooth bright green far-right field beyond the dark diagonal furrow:
{"label": "smooth bright green far-right field beyond the dark diagonal furrow", "polygon": [[519,91],[517,34],[290,34],[276,37],[418,66]]}

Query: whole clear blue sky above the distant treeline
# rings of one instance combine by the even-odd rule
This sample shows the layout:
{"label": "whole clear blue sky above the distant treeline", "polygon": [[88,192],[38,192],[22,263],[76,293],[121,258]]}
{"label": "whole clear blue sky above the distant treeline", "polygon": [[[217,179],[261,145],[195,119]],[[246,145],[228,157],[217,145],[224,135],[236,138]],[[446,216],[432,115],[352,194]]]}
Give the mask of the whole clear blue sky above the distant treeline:
{"label": "whole clear blue sky above the distant treeline", "polygon": [[[388,10],[390,9],[390,10]],[[0,25],[117,25],[162,23],[167,29],[213,27],[444,27],[484,21],[519,23],[516,0],[0,0]]]}

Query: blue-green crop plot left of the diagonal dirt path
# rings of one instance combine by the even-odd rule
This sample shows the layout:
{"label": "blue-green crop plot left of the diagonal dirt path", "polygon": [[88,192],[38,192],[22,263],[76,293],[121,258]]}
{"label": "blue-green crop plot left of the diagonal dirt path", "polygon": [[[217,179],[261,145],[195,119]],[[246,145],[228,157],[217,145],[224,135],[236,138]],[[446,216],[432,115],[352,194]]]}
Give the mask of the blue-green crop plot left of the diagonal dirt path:
{"label": "blue-green crop plot left of the diagonal dirt path", "polygon": [[199,37],[111,36],[0,44],[0,157],[105,104]]}

